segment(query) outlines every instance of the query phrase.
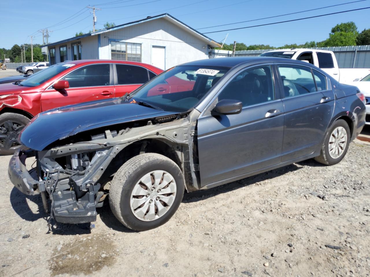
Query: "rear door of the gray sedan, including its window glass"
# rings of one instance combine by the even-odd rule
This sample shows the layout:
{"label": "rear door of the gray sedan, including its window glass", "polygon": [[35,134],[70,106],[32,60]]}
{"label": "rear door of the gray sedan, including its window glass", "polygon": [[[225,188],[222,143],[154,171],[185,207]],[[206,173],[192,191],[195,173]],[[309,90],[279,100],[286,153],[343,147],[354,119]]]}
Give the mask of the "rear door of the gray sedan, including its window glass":
{"label": "rear door of the gray sedan, including its window glass", "polygon": [[319,146],[332,119],[334,93],[326,76],[308,66],[279,64],[277,72],[285,109],[285,162],[312,154]]}

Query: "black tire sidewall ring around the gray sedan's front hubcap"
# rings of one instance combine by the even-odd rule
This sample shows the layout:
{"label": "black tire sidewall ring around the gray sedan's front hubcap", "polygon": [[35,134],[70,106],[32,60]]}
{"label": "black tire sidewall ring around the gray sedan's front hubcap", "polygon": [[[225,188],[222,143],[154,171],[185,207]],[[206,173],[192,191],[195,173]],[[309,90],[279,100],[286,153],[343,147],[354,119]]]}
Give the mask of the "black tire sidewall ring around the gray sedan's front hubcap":
{"label": "black tire sidewall ring around the gray sedan's front hubcap", "polygon": [[[140,178],[142,178],[145,174],[155,171],[155,170],[164,170],[174,177],[176,182],[176,196],[175,200],[171,205],[171,208],[165,215],[161,216],[158,219],[153,221],[142,221],[135,217],[135,215],[131,211],[130,206],[130,197],[132,193],[132,189],[137,184]],[[182,196],[184,195],[184,177],[180,168],[171,163],[170,161],[166,160],[152,160],[149,163],[144,164],[136,170],[132,172],[130,176],[127,178],[125,184],[122,187],[121,193],[121,201],[120,201],[120,210],[122,218],[125,220],[125,223],[129,225],[131,229],[144,231],[150,230],[153,228],[157,228],[158,226],[163,225],[166,223],[176,212],[177,208],[179,207]]]}

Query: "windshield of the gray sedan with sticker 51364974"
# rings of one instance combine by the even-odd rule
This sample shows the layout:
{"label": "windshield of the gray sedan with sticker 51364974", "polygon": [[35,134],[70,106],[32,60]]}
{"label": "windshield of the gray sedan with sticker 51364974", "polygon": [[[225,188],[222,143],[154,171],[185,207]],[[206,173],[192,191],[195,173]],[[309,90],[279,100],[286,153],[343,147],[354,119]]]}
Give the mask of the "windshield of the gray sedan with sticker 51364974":
{"label": "windshield of the gray sedan with sticker 51364974", "polygon": [[171,112],[186,112],[229,70],[215,66],[176,66],[141,86],[127,98]]}

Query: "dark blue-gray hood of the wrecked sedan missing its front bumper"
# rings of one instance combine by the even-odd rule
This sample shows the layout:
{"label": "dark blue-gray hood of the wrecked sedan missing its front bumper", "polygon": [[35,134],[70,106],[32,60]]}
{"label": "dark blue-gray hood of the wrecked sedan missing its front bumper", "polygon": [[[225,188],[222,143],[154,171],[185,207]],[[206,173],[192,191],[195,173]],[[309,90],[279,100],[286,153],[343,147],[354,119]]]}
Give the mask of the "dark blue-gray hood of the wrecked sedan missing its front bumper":
{"label": "dark blue-gray hood of the wrecked sedan missing its front bumper", "polygon": [[129,103],[120,98],[65,106],[38,114],[21,131],[24,146],[41,151],[49,144],[103,126],[176,114]]}

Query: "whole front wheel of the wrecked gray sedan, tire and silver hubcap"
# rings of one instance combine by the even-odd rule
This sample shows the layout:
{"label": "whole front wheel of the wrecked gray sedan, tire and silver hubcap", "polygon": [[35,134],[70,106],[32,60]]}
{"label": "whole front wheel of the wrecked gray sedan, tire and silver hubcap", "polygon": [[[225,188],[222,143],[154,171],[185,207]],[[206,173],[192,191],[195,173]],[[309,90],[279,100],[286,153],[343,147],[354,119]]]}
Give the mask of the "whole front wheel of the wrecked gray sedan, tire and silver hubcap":
{"label": "whole front wheel of the wrecked gray sedan, tire and silver hubcap", "polygon": [[146,231],[166,223],[178,209],[185,180],[178,165],[155,153],[137,155],[114,175],[109,204],[127,228]]}

